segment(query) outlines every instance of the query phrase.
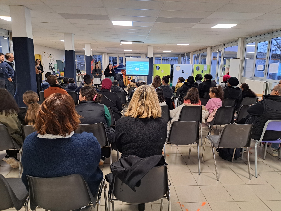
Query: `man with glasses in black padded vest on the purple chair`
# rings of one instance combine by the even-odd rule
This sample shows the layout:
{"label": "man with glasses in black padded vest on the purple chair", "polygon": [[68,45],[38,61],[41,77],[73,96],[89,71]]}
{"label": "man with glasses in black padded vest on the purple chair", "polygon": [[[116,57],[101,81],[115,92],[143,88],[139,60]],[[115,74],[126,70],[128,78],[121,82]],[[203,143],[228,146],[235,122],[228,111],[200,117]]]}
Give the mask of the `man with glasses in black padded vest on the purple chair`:
{"label": "man with glasses in black padded vest on the purple chair", "polygon": [[[251,105],[247,112],[250,114],[238,122],[238,124],[253,124],[251,138],[259,140],[265,123],[268,120],[281,121],[281,84],[271,89],[270,95],[263,95],[264,99]],[[277,156],[279,143],[271,143],[267,150],[271,155]]]}

